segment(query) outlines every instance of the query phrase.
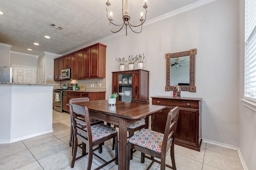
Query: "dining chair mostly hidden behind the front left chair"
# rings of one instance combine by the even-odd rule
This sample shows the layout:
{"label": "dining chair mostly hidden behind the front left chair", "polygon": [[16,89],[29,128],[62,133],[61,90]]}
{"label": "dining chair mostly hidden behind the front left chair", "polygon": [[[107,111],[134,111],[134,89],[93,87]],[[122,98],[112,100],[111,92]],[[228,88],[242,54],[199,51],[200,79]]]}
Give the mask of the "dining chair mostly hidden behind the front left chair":
{"label": "dining chair mostly hidden behind the front left chair", "polygon": [[[73,98],[73,99],[71,99],[70,101],[69,101],[69,103],[72,103],[72,104],[75,104],[75,103],[77,103],[77,102],[88,102],[89,101],[89,98]],[[72,123],[72,118],[71,118],[71,115],[72,115],[72,108],[71,108],[71,105],[70,104],[68,104],[69,105],[69,110],[70,110],[70,137],[69,137],[69,146],[72,146],[72,154],[73,154],[73,150],[74,150],[74,145],[72,145],[72,143],[73,143],[73,123]],[[85,118],[82,118],[82,120],[84,120]],[[94,119],[94,118],[90,118],[90,124],[91,125],[96,125],[96,124],[100,124],[100,123],[104,123],[104,121],[100,121],[100,120],[98,120],[98,119]],[[78,122],[78,124],[80,124],[79,122]],[[81,124],[80,124],[81,125]],[[80,146],[80,145],[78,145],[78,146]],[[100,145],[99,146],[100,147],[100,149],[99,149],[99,153],[101,153],[102,152],[102,145]]]}

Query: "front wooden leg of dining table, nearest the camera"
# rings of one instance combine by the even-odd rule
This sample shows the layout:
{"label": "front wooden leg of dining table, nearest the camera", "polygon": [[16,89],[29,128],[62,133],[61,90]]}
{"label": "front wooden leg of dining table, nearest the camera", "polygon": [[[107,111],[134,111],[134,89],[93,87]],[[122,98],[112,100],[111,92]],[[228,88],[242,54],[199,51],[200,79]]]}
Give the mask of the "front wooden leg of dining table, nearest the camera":
{"label": "front wooden leg of dining table, nearest the camera", "polygon": [[127,119],[119,117],[118,169],[126,169]]}

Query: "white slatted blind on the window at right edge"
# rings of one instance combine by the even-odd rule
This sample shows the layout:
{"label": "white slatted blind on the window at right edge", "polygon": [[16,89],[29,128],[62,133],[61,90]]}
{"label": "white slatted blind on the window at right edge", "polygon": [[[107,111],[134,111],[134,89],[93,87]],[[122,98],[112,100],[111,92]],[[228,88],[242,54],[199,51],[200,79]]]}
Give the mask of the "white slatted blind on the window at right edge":
{"label": "white slatted blind on the window at right edge", "polygon": [[256,0],[245,0],[244,96],[256,102]]}

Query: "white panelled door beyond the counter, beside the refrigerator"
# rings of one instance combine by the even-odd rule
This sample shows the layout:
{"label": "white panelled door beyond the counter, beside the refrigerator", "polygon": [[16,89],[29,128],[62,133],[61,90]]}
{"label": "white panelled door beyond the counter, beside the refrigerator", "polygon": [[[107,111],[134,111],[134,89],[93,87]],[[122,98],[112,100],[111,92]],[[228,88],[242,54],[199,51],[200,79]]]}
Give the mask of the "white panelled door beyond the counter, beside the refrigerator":
{"label": "white panelled door beyond the counter, beside the refrigerator", "polygon": [[14,82],[17,83],[35,83],[36,82],[36,67],[28,66],[12,66],[14,69]]}

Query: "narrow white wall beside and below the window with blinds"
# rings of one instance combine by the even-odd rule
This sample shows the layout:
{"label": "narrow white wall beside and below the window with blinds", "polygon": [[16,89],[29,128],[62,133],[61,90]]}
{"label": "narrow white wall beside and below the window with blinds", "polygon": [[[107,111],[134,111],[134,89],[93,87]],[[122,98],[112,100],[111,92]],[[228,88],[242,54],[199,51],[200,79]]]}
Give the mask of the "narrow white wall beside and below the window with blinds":
{"label": "narrow white wall beside and below the window with blinds", "polygon": [[[244,98],[244,0],[239,1],[239,98]],[[239,150],[248,170],[256,169],[256,112],[239,104]]]}

